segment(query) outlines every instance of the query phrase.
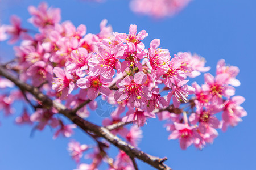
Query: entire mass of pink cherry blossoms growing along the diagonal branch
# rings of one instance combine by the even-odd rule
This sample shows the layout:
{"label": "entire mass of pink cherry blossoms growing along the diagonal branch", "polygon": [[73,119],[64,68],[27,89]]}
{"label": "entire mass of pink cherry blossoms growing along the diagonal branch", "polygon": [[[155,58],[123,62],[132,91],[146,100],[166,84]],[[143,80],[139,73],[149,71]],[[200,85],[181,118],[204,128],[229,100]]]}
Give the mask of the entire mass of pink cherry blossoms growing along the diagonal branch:
{"label": "entire mass of pink cherry blossoms growing along the diagonal branch", "polygon": [[[70,21],[60,22],[60,9],[46,3],[30,6],[28,11],[28,21],[38,29],[37,33],[23,28],[18,16],[11,16],[11,25],[0,26],[1,41],[10,37],[9,43],[14,44],[21,40],[19,46],[14,46],[15,59],[6,68],[68,109],[75,109],[82,118],[97,109],[97,97],[101,97],[115,108],[102,125],[132,123],[112,130],[130,145],[138,145],[142,138],[139,127],[156,115],[167,121],[169,139],[179,139],[182,149],[192,144],[201,149],[213,143],[218,135],[216,129],[225,131],[228,126],[236,126],[247,114],[240,106],[245,99],[234,96],[234,87],[240,86],[236,79],[239,69],[226,65],[223,59],[217,64],[215,77],[205,73],[205,84],[194,82],[189,86],[188,78],[210,70],[204,58],[184,52],[171,57],[168,49],[160,48],[159,39],[146,48],[142,41],[148,33],[137,31],[137,25],[130,25],[129,33],[118,33],[102,20],[100,32],[92,34],[86,32],[84,24],[75,27]],[[9,80],[0,79],[0,88],[13,86]],[[6,115],[13,114],[16,100],[26,101],[34,109],[30,114],[24,107],[16,117],[18,124],[35,125],[38,130],[51,126],[55,129],[53,139],[74,133],[75,124],[66,124],[55,108],[44,108],[22,90],[1,94],[0,109]],[[217,113],[222,114],[220,120]],[[109,164],[109,169],[134,168],[125,152],[120,151],[111,160],[106,154],[108,144],[90,135],[98,147],[76,141],[68,145],[78,169],[97,169],[102,161]],[[92,164],[81,163],[82,155],[92,149],[87,153]]]}

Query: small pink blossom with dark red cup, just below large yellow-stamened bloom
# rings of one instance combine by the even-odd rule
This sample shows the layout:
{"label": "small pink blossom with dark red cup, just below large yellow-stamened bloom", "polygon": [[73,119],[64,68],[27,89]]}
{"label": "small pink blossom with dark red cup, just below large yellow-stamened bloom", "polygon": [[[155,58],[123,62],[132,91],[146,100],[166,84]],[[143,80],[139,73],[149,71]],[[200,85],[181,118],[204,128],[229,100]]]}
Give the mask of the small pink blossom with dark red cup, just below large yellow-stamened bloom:
{"label": "small pink blossom with dark red cup, just below large yellow-stamened bloom", "polygon": [[90,100],[96,99],[98,93],[108,96],[110,95],[110,90],[106,86],[107,82],[112,80],[104,79],[102,76],[86,76],[85,78],[80,78],[77,80],[77,86],[82,89],[87,89],[87,95]]}

